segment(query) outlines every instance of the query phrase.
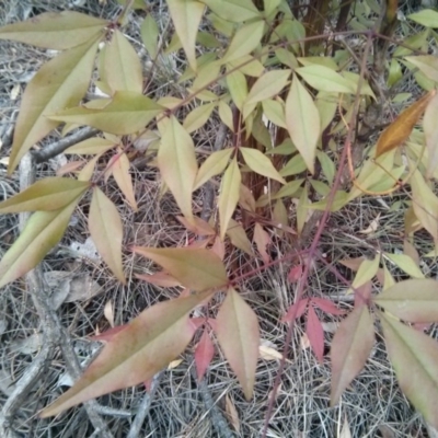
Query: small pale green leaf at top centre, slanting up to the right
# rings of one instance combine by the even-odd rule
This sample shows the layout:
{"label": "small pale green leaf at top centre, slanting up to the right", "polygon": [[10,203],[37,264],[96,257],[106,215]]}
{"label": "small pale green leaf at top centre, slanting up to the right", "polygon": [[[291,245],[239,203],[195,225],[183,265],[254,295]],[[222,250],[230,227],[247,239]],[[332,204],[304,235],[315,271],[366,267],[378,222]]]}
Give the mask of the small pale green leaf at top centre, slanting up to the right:
{"label": "small pale green leaf at top centre, slanting up to the right", "polygon": [[263,21],[257,21],[239,28],[234,37],[231,39],[221,62],[230,62],[253,51],[262,41],[264,26]]}

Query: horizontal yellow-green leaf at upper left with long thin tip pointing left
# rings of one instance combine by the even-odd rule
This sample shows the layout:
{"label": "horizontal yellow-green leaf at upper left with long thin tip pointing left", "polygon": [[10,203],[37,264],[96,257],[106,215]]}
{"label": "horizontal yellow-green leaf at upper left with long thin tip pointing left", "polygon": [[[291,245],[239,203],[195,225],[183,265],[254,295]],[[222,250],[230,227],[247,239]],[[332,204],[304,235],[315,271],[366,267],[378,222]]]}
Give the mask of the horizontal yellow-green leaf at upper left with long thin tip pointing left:
{"label": "horizontal yellow-green leaf at upper left with long thin tip pointing left", "polygon": [[102,110],[74,107],[49,116],[50,119],[89,125],[105,132],[127,135],[146,127],[164,108],[141,93],[117,91]]}

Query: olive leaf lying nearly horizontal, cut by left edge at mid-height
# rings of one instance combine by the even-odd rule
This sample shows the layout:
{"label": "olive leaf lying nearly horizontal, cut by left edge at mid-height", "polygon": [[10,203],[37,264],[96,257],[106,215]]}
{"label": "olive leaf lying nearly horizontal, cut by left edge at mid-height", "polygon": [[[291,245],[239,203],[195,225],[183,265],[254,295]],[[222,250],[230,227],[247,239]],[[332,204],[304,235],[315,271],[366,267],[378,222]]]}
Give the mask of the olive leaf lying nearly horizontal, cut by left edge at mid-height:
{"label": "olive leaf lying nearly horizontal, cut by left edge at mid-height", "polygon": [[58,210],[72,203],[89,187],[87,182],[49,176],[0,203],[0,214]]}

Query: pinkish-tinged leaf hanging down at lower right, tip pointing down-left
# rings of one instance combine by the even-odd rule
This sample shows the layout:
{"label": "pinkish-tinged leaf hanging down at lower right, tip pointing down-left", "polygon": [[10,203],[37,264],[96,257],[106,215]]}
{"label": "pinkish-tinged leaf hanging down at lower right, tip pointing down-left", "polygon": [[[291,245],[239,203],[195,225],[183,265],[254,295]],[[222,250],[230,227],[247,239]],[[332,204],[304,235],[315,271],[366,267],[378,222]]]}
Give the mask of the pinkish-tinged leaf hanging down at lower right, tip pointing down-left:
{"label": "pinkish-tinged leaf hanging down at lower right, tip pointing down-left", "polygon": [[332,393],[334,406],[353,379],[360,372],[374,344],[374,327],[366,306],[360,306],[341,323],[331,350]]}

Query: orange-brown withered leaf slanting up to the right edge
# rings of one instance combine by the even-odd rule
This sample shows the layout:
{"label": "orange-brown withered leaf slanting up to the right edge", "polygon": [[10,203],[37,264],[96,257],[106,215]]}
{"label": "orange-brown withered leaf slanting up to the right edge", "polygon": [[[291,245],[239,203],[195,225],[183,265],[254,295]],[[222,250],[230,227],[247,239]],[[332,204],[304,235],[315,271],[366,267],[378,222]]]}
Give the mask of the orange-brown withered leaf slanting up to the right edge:
{"label": "orange-brown withered leaf slanting up to the right edge", "polygon": [[436,91],[431,91],[414,102],[381,134],[377,142],[376,157],[381,155],[404,143],[410,137],[414,126],[425,112]]}

